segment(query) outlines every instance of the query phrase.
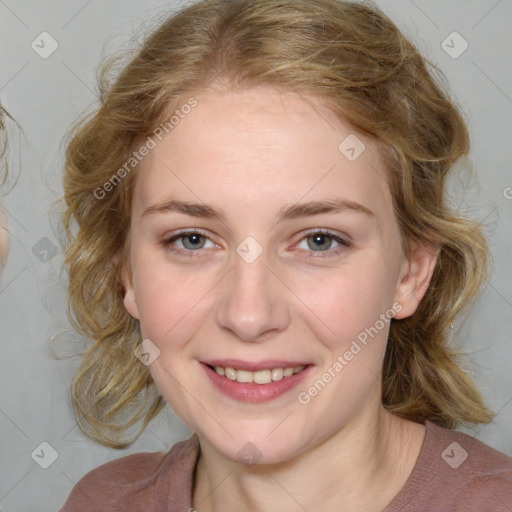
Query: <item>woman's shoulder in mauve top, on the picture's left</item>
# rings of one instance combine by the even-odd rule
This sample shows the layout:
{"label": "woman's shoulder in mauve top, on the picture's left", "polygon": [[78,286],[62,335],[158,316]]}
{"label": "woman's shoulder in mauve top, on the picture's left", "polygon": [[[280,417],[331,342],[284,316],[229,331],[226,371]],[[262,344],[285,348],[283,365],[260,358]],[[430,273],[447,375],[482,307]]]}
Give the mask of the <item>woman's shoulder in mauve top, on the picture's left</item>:
{"label": "woman's shoulder in mauve top, on the picture's left", "polygon": [[196,456],[192,437],[174,444],[168,453],[135,453],[102,464],[78,481],[60,512],[156,508],[162,492],[190,479]]}

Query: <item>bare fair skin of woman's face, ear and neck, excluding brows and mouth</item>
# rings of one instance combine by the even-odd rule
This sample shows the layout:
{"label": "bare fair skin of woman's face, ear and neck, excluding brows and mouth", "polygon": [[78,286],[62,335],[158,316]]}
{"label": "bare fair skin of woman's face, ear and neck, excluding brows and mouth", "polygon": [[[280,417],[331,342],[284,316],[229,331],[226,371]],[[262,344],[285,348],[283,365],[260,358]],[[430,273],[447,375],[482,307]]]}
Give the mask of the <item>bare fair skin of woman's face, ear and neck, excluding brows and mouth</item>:
{"label": "bare fair skin of woman's face, ear and neck, excluding brows and mouth", "polygon": [[[357,135],[366,149],[352,162],[338,150],[356,133],[347,121],[311,98],[265,87],[195,97],[198,106],[137,170],[122,272],[125,307],[160,350],[151,374],[200,440],[193,505],[380,511],[405,484],[425,435],[381,403],[389,323],[307,405],[297,394],[393,304],[401,306],[396,318],[413,314],[436,255],[421,247],[410,260],[403,255],[372,140]],[[345,210],[277,222],[286,206],[332,197],[373,215]],[[169,199],[206,203],[226,219],[142,215]],[[199,250],[188,249],[197,258],[162,243],[187,228],[207,235],[195,241]],[[317,229],[349,247],[327,237],[317,249]],[[247,236],[263,249],[252,263],[236,252]],[[185,252],[186,242],[171,247]],[[297,389],[251,404],[212,386],[199,361],[213,358],[293,358],[314,367]],[[248,442],[261,454],[254,466],[238,457]]]}

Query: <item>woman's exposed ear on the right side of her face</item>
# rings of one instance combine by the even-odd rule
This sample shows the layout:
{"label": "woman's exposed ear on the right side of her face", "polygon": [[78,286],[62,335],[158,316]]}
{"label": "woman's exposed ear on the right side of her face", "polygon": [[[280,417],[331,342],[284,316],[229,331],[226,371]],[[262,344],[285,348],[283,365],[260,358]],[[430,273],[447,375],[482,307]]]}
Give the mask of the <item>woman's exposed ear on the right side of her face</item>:
{"label": "woman's exposed ear on the right side of her face", "polygon": [[395,318],[407,318],[414,314],[432,279],[439,255],[438,247],[415,244],[409,258],[404,256],[395,301],[402,309]]}

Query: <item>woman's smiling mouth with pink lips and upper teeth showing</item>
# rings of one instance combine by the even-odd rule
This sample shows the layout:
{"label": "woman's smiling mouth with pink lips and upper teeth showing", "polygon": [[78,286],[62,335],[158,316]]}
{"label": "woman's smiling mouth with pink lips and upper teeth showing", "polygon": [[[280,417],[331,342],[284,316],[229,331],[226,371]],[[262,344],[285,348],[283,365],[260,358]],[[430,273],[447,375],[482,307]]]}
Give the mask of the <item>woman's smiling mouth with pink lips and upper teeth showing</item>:
{"label": "woman's smiling mouth with pink lips and upper teeth showing", "polygon": [[275,399],[301,382],[311,364],[267,362],[249,364],[240,361],[201,363],[215,388],[242,402],[265,402]]}

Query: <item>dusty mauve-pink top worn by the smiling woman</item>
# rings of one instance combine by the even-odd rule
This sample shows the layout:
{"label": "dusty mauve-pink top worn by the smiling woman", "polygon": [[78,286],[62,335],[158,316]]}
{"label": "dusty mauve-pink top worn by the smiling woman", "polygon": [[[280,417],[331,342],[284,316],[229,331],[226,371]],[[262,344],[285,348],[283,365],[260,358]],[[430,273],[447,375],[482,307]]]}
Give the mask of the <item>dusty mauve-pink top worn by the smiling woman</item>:
{"label": "dusty mauve-pink top worn by the smiling woman", "polygon": [[[382,512],[512,512],[512,458],[427,421],[409,479]],[[199,454],[194,437],[87,473],[60,512],[189,512]]]}

